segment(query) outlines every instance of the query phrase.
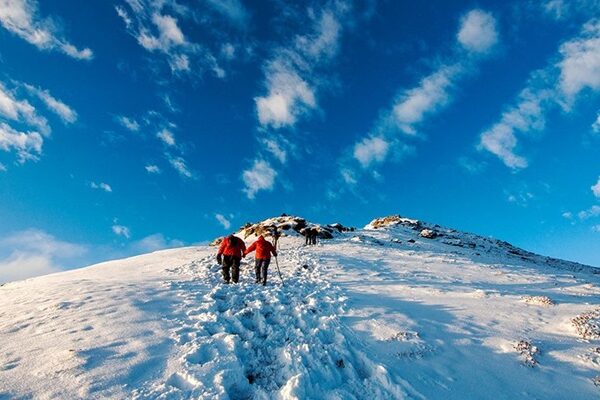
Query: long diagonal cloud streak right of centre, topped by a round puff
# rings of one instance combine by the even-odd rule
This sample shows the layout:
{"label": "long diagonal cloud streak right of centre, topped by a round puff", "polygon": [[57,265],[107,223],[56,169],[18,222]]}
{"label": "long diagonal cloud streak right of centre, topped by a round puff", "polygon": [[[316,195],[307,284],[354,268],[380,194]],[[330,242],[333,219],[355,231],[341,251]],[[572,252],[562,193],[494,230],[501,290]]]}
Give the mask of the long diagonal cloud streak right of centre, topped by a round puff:
{"label": "long diagonal cloud streak right of centre, topped by a round puff", "polygon": [[354,185],[361,170],[376,168],[390,156],[400,160],[415,151],[405,138],[417,136],[428,118],[453,101],[461,80],[477,72],[477,62],[491,54],[499,42],[496,25],[494,16],[480,9],[463,15],[451,55],[416,86],[401,89],[391,105],[380,112],[371,130],[352,146],[351,157],[342,160],[343,183]]}

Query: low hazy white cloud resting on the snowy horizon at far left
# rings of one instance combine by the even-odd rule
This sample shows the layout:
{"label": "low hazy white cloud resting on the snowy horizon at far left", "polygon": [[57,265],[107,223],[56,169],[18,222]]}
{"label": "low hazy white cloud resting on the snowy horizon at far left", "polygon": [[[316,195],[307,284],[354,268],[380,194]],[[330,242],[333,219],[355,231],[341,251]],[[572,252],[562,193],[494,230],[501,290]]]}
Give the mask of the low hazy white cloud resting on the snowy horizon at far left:
{"label": "low hazy white cloud resting on the snowy horizon at far left", "polygon": [[0,239],[0,282],[58,272],[78,262],[87,251],[41,230],[15,232]]}

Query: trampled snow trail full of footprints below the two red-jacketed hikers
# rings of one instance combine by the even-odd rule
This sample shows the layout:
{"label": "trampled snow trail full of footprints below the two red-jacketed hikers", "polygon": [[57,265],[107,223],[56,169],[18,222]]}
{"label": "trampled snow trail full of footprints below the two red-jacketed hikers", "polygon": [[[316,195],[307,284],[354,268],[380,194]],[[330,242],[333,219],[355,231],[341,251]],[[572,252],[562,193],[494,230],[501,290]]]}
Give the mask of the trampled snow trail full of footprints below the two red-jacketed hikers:
{"label": "trampled snow trail full of footprints below the two red-jacketed hikers", "polygon": [[405,397],[340,322],[344,298],[322,278],[319,260],[294,248],[280,261],[285,286],[274,268],[275,284],[246,283],[244,266],[245,282],[224,285],[213,257],[173,269],[185,277],[171,281],[182,299],[171,332],[178,357],[163,381],[134,398]]}

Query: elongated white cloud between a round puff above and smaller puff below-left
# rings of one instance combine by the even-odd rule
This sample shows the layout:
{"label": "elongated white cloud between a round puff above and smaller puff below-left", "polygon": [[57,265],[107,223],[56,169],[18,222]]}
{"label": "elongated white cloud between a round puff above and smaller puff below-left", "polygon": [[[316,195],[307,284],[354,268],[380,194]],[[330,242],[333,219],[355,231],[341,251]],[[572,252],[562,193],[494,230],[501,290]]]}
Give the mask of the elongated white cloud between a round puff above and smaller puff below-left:
{"label": "elongated white cloud between a round puff above and smaller puff below-left", "polygon": [[418,87],[400,96],[392,110],[392,118],[398,128],[406,134],[416,134],[415,125],[449,102],[449,91],[462,72],[460,64],[444,65],[425,77]]}

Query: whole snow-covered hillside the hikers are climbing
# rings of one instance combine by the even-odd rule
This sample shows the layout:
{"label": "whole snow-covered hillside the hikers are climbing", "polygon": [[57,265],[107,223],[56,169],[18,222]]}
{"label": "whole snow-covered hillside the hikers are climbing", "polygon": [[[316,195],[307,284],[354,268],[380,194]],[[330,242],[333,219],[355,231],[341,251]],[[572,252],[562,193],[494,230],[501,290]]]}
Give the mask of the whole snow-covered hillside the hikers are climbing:
{"label": "whole snow-covered hillside the hikers are climbing", "polygon": [[0,287],[0,399],[600,395],[595,268],[409,222],[279,244],[285,285],[189,247]]}

